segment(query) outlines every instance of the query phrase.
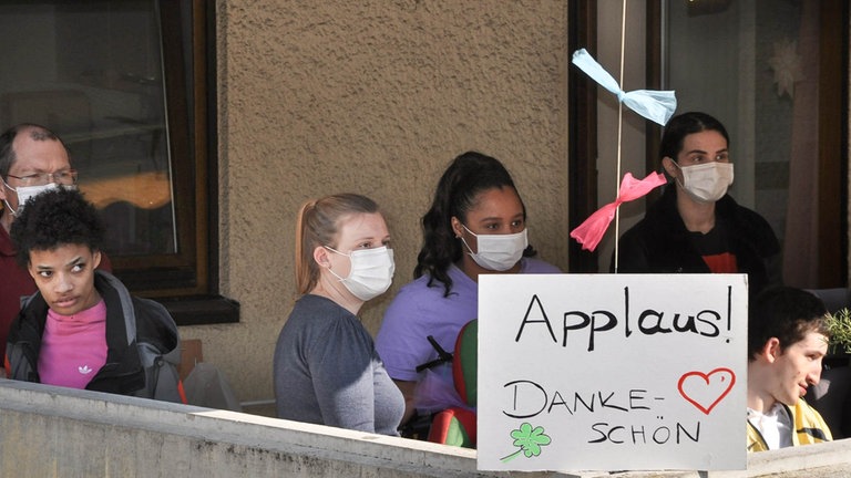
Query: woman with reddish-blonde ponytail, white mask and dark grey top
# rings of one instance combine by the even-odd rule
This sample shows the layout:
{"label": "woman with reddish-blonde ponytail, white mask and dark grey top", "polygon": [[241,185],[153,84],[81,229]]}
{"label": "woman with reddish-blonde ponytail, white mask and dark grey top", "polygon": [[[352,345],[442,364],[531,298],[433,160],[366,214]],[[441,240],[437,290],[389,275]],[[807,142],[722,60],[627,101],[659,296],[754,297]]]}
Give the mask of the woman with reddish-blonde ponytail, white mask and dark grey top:
{"label": "woman with reddish-blonde ponytail, white mask and dark grey top", "polygon": [[306,202],[296,221],[300,298],[275,347],[279,418],[398,435],[403,399],[358,319],[393,277],[385,218],[371,199],[338,194]]}

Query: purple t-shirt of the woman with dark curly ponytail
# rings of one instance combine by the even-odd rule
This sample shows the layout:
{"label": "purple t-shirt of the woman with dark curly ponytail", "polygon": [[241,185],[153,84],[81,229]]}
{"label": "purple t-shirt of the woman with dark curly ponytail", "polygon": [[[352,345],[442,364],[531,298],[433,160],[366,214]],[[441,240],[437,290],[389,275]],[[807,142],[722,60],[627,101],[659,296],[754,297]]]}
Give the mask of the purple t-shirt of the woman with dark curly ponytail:
{"label": "purple t-shirt of the woman with dark curly ponytail", "polygon": [[[449,268],[452,290],[443,297],[443,283],[422,276],[402,287],[385,313],[376,337],[376,350],[393,380],[414,382],[423,377],[417,366],[435,360],[438,352],[428,341],[432,335],[452,353],[465,323],[479,313],[479,284],[454,264]],[[561,273],[555,266],[537,259],[521,260],[519,273]],[[421,397],[419,397],[421,398]]]}

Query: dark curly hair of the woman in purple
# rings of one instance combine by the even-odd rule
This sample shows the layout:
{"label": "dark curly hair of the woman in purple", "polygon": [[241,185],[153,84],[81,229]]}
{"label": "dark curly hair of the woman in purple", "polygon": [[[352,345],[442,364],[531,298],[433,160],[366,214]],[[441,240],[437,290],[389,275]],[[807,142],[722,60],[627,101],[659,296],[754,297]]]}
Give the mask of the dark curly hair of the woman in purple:
{"label": "dark curly hair of the woman in purple", "polygon": [[[452,217],[465,222],[468,211],[476,205],[481,193],[506,187],[517,193],[511,175],[498,159],[478,152],[455,157],[438,183],[431,208],[422,217],[423,243],[417,256],[413,278],[428,273],[428,287],[433,287],[435,280],[440,281],[444,288],[443,297],[449,297],[452,279],[447,271],[463,253],[461,241],[452,232]],[[520,204],[523,205],[522,198]],[[525,216],[526,207],[523,206],[524,219]],[[524,251],[526,257],[534,253],[531,246]]]}

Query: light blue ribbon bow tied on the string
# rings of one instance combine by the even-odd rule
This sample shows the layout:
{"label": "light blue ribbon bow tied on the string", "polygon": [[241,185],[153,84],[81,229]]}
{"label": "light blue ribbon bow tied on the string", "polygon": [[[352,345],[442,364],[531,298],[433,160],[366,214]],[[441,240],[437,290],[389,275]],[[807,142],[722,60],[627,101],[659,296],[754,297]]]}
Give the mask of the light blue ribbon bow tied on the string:
{"label": "light blue ribbon bow tied on the string", "polygon": [[578,66],[601,86],[617,95],[617,101],[629,110],[663,126],[677,110],[677,97],[673,91],[621,90],[614,77],[594,60],[585,49],[573,52],[573,64]]}

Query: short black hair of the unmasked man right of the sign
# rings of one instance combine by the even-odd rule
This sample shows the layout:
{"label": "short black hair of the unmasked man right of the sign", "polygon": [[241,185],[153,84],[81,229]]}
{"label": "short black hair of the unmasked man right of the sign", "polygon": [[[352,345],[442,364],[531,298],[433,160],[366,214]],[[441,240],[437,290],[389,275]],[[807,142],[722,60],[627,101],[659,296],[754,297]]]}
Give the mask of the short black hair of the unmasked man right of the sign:
{"label": "short black hair of the unmasked man right of the sign", "polygon": [[776,285],[753,299],[748,314],[748,361],[753,361],[771,337],[780,350],[802,341],[809,332],[830,336],[824,303],[802,289]]}

